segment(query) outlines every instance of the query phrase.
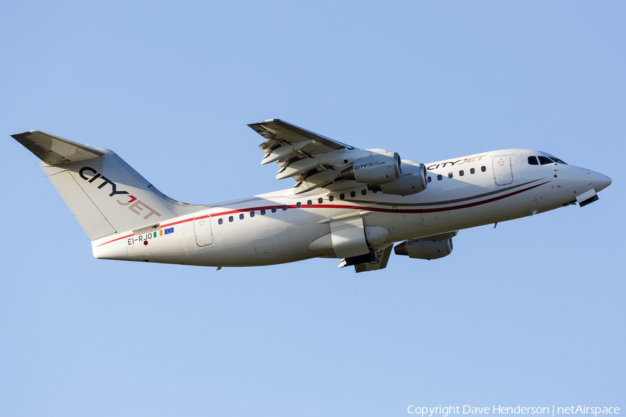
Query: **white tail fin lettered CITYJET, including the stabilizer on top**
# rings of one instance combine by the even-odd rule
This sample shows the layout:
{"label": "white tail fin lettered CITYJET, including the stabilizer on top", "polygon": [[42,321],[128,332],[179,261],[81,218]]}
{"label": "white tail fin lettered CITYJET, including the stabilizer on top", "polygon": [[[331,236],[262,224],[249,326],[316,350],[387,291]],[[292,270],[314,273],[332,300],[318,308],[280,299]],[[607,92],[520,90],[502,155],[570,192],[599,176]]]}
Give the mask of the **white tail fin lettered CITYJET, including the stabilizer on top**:
{"label": "white tail fin lettered CITYJET, including the stabilizer on top", "polygon": [[195,207],[163,195],[115,152],[42,131],[13,138],[43,161],[41,167],[90,240],[159,224]]}

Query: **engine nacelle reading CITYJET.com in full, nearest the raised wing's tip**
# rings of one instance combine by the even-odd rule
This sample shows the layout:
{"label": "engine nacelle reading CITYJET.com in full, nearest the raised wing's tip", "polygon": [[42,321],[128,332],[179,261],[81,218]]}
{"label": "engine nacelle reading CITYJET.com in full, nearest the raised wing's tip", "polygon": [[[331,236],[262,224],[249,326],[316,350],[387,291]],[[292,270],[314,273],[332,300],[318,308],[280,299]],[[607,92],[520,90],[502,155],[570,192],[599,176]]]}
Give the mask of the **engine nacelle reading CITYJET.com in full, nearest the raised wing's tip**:
{"label": "engine nacelle reading CITYJET.com in full, nearest the raised wing's tip", "polygon": [[342,171],[343,179],[362,184],[386,184],[400,178],[400,156],[397,152],[376,154],[361,158]]}

